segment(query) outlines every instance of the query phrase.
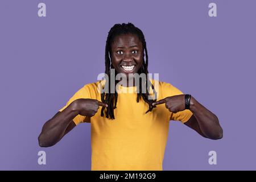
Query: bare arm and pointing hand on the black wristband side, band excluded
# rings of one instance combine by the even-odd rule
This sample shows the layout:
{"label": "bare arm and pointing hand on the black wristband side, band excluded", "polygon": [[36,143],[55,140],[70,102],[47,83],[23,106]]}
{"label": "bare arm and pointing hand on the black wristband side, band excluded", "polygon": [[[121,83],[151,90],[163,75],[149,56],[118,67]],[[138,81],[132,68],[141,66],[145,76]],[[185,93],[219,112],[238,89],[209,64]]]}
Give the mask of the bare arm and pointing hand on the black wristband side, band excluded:
{"label": "bare arm and pointing hand on the black wristband side, band excluded", "polygon": [[[184,94],[166,97],[163,100],[154,102],[152,105],[166,104],[166,108],[172,113],[185,110],[185,98]],[[218,118],[211,111],[206,109],[203,105],[195,100],[191,96],[192,117],[185,123],[188,127],[197,131],[203,137],[209,139],[221,139],[223,136],[223,130],[218,122]]]}

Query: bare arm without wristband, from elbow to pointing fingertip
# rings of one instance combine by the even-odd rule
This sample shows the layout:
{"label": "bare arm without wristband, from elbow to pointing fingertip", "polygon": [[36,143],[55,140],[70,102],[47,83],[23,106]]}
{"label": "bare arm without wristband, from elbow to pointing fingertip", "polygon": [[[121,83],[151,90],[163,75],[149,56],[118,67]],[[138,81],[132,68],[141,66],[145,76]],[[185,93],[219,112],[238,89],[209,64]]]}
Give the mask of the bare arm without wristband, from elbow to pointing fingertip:
{"label": "bare arm without wristband, from elbow to pointing fingertip", "polygon": [[38,137],[39,146],[53,146],[76,126],[75,122],[73,122],[73,118],[76,115],[80,114],[90,118],[97,113],[99,106],[108,107],[108,105],[93,99],[80,98],[73,101],[63,111],[55,114],[44,124]]}

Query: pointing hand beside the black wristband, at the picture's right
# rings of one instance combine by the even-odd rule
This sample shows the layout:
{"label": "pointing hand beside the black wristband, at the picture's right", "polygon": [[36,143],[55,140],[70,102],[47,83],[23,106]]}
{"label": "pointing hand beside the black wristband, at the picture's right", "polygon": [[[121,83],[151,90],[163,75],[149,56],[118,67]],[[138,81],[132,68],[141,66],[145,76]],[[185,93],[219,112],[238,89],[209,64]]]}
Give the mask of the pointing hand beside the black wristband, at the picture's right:
{"label": "pointing hand beside the black wristband, at the picture's right", "polygon": [[183,111],[185,110],[185,95],[182,94],[177,96],[166,97],[162,100],[152,103],[153,106],[159,104],[166,104],[166,108],[172,113]]}

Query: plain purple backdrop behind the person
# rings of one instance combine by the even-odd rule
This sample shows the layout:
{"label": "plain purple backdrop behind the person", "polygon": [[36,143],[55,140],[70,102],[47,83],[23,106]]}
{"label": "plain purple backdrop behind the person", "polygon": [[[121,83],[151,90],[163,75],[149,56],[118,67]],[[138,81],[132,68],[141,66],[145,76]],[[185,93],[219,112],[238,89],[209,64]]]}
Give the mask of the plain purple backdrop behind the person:
{"label": "plain purple backdrop behind the person", "polygon": [[[47,17],[38,17],[38,3]],[[217,17],[208,16],[210,2]],[[104,72],[115,23],[144,32],[149,72],[160,73],[215,113],[224,138],[209,140],[171,122],[163,169],[256,169],[255,1],[0,2],[0,169],[90,170],[90,124],[50,148],[42,125],[84,84]],[[38,164],[38,151],[47,164]],[[209,165],[208,152],[217,152]]]}

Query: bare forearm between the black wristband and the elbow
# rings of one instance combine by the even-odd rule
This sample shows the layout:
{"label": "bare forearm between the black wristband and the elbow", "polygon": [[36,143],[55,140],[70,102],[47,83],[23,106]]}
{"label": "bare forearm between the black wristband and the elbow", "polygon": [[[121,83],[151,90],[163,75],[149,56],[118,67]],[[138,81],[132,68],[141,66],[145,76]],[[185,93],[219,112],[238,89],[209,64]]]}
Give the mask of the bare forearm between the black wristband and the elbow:
{"label": "bare forearm between the black wristband and the elbow", "polygon": [[223,135],[223,130],[218,122],[215,114],[201,105],[191,96],[190,110],[195,115],[201,132],[205,137],[210,139],[220,139]]}

